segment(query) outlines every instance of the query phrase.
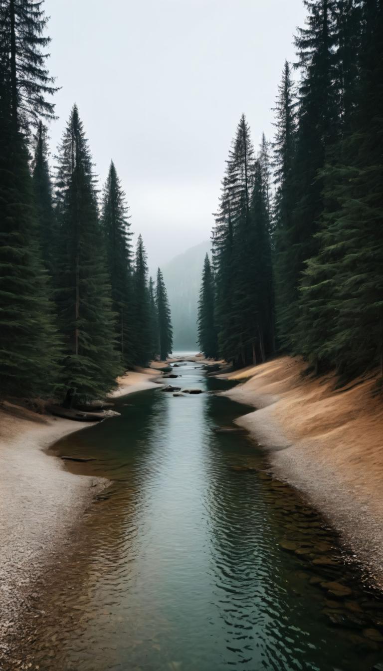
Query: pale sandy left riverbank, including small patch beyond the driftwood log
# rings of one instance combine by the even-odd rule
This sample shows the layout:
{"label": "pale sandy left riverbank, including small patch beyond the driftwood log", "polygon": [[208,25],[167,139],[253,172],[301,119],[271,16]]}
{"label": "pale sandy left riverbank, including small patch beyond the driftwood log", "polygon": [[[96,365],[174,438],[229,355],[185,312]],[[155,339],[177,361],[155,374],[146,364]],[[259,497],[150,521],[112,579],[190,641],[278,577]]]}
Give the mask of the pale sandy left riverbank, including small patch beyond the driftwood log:
{"label": "pale sandy left riverbank, including small patch beyond the driftwood log", "polygon": [[[152,378],[152,370],[129,372],[119,378],[113,397],[157,386]],[[0,409],[0,659],[16,618],[31,602],[33,607],[46,567],[60,562],[76,521],[108,484],[68,472],[47,453],[64,435],[89,425],[11,403]]]}

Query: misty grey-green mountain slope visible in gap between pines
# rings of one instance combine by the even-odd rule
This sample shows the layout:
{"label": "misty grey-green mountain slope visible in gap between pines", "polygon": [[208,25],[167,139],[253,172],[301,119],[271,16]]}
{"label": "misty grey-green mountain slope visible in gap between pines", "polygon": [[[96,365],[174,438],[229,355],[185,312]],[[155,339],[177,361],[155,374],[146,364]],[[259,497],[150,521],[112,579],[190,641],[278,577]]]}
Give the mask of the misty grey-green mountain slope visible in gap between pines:
{"label": "misty grey-green mountain slope visible in gap between pines", "polygon": [[174,350],[197,347],[197,306],[207,252],[209,240],[175,256],[162,268],[172,311]]}

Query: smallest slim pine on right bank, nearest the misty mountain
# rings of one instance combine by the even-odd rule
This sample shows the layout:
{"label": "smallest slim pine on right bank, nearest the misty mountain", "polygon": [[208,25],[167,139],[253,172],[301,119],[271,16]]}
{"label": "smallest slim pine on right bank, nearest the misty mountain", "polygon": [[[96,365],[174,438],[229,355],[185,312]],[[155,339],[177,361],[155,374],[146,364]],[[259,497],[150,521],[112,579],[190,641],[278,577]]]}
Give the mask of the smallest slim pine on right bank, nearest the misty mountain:
{"label": "smallest slim pine on right bank, nearest the misty mountain", "polygon": [[209,254],[205,256],[198,309],[198,338],[207,358],[218,358],[217,325],[215,323],[215,287]]}

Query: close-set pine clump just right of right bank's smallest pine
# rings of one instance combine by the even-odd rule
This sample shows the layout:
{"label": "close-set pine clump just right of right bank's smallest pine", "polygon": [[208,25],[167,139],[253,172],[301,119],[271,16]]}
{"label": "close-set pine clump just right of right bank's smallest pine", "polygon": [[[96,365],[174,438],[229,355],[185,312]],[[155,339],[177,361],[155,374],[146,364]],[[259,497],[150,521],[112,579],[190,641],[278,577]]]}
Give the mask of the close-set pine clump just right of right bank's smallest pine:
{"label": "close-set pine clump just right of right bank's smallest pine", "polygon": [[235,365],[264,361],[274,350],[269,192],[268,144],[263,136],[255,161],[242,115],[213,231],[219,352]]}

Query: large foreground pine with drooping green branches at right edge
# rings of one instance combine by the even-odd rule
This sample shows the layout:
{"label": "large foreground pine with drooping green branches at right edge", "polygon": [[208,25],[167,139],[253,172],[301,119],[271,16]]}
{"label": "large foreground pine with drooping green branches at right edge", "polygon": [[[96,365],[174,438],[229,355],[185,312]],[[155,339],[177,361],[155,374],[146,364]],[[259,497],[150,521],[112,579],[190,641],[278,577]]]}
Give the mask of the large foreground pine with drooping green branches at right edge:
{"label": "large foreground pine with drooping green branches at right edge", "polygon": [[303,352],[347,376],[378,362],[383,370],[382,30],[382,3],[366,2],[354,130],[339,148],[342,162],[324,170],[337,207],[325,213],[301,299],[301,319],[311,321]]}

